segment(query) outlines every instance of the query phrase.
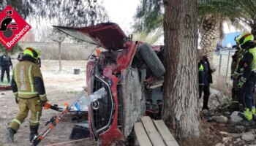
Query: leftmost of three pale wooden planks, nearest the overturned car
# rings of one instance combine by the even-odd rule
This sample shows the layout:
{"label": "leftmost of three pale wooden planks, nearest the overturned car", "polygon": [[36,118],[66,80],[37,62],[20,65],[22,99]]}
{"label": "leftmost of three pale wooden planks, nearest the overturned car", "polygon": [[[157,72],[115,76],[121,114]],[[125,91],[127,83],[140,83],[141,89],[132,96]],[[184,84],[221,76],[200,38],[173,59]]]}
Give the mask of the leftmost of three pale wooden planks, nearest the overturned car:
{"label": "leftmost of three pale wooden planks, nearest the overturned car", "polygon": [[142,123],[135,123],[135,135],[136,135],[135,146],[137,145],[152,146]]}

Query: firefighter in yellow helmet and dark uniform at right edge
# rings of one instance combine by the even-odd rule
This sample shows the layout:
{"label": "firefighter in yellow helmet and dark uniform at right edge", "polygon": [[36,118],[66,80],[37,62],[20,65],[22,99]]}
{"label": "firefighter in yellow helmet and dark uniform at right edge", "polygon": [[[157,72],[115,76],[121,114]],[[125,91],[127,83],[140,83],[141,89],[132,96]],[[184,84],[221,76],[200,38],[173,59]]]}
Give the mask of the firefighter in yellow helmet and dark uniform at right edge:
{"label": "firefighter in yellow helmet and dark uniform at right edge", "polygon": [[254,91],[256,83],[256,47],[254,37],[249,32],[244,32],[236,38],[236,42],[244,50],[238,63],[236,72],[241,74],[237,82],[238,88],[242,90],[242,101],[244,101],[244,118],[246,123],[252,123],[252,115],[255,115]]}

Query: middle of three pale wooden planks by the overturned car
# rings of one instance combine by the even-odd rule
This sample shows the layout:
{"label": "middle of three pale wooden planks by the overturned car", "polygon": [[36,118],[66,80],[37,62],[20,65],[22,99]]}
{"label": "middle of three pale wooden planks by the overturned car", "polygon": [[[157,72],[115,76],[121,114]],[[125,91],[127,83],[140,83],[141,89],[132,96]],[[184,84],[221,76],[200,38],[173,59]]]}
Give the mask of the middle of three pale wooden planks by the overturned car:
{"label": "middle of three pale wooden planks by the overturned car", "polygon": [[154,146],[165,146],[165,142],[163,141],[162,137],[160,136],[157,128],[154,126],[153,121],[150,117],[145,116],[141,118],[143,126],[148,134],[149,139],[151,140]]}

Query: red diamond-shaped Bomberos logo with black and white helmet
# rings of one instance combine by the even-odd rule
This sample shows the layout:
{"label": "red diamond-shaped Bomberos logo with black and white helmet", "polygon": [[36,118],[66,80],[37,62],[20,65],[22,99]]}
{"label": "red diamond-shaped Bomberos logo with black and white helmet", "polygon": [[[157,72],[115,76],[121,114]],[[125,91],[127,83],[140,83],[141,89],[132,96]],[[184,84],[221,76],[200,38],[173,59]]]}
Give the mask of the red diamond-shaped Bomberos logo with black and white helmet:
{"label": "red diamond-shaped Bomberos logo with black and white helmet", "polygon": [[0,42],[8,50],[31,29],[31,26],[10,6],[0,13],[0,20]]}

